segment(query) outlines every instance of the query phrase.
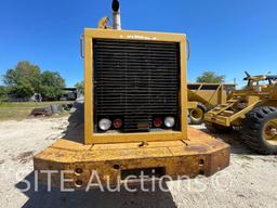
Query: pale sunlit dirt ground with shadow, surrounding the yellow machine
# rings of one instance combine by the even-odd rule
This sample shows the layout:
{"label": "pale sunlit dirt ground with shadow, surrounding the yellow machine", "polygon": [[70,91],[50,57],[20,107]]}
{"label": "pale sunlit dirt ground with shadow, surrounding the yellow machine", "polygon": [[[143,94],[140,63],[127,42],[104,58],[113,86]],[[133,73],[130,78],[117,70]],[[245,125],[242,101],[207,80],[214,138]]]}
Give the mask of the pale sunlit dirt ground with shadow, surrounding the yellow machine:
{"label": "pale sunlit dirt ground with shadow, surrounding the yellow machine", "polygon": [[[48,192],[43,185],[21,192],[34,180],[32,156],[64,135],[67,117],[0,122],[0,207],[277,207],[277,156],[260,156],[236,138],[230,166],[210,178],[167,182],[170,192]],[[195,127],[202,129],[203,126]]]}

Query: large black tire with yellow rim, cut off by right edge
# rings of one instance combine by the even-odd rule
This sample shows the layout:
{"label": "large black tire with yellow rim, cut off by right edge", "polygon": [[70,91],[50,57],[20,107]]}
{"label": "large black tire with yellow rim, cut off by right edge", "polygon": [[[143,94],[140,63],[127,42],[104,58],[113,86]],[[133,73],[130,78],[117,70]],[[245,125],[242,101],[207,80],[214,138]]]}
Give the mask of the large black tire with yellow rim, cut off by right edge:
{"label": "large black tire with yellow rim, cut off by right edge", "polygon": [[241,139],[250,148],[260,154],[275,155],[277,154],[276,121],[276,107],[256,107],[246,115],[241,129]]}

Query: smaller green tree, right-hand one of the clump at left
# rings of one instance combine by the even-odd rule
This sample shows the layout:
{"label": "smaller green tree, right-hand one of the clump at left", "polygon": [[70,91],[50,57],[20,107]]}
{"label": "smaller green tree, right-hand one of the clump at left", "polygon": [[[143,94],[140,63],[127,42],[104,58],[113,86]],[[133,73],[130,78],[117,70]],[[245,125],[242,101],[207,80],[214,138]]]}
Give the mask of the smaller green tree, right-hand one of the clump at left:
{"label": "smaller green tree, right-hand one of the clump at left", "polygon": [[39,92],[44,100],[57,100],[63,94],[63,88],[65,80],[58,73],[45,70],[41,74]]}

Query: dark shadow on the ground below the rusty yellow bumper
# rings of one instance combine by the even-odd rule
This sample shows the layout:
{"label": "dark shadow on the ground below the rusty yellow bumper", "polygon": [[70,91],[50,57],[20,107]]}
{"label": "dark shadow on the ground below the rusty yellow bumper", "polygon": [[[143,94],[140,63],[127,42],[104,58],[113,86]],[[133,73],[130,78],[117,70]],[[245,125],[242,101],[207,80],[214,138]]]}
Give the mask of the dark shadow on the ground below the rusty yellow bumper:
{"label": "dark shadow on the ground below the rusty yellow bumper", "polygon": [[[35,174],[31,172],[25,178],[30,182],[30,190],[24,192],[28,197],[28,202],[23,208],[41,207],[93,207],[93,208],[176,208],[170,192],[162,192],[156,187],[155,192],[142,192],[134,193],[127,192],[124,190],[120,192],[102,192],[101,190],[92,190],[90,192],[76,191],[76,192],[61,192],[57,188],[48,192],[47,185],[39,185],[38,192],[35,192]],[[16,184],[18,190],[26,187],[24,181]]]}

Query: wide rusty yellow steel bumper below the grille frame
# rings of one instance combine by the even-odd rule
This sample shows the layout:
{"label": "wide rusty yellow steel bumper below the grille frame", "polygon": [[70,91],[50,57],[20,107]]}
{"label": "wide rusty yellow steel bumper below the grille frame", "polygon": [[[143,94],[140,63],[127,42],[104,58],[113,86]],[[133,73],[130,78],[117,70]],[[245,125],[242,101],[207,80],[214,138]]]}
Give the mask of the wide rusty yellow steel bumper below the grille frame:
{"label": "wide rusty yellow steel bumper below the grille frame", "polygon": [[[126,182],[128,174],[156,170],[158,177],[207,177],[229,165],[229,146],[202,131],[189,128],[188,140],[142,143],[83,145],[61,139],[34,158],[39,182],[61,186],[61,173],[66,187],[82,188],[90,180],[102,184]],[[63,170],[63,171],[62,171]],[[128,182],[135,182],[130,180]]]}

